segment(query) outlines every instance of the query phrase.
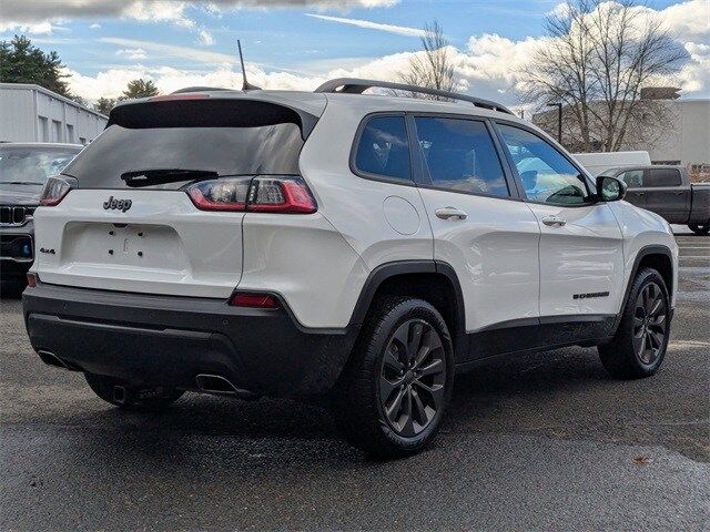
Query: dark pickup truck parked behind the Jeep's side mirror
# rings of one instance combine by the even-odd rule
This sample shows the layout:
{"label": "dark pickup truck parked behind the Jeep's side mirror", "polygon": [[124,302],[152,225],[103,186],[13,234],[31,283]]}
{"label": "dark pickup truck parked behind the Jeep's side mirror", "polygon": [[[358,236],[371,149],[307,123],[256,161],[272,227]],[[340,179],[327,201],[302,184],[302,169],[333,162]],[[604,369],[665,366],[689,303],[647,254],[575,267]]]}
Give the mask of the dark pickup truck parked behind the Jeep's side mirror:
{"label": "dark pickup truck parked behind the Jeep's side mirror", "polygon": [[636,166],[601,173],[627,186],[626,201],[663,216],[670,224],[687,225],[693,233],[710,233],[710,183],[690,183],[682,166]]}

